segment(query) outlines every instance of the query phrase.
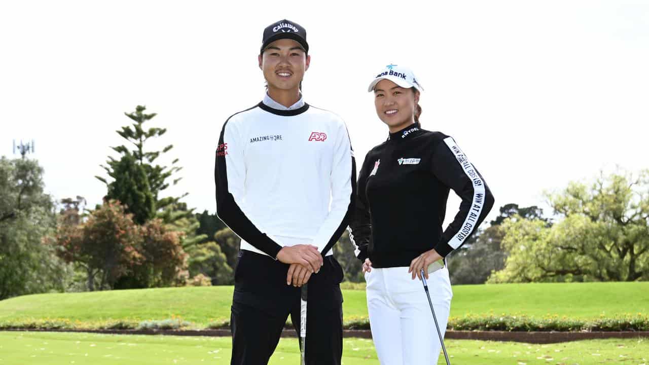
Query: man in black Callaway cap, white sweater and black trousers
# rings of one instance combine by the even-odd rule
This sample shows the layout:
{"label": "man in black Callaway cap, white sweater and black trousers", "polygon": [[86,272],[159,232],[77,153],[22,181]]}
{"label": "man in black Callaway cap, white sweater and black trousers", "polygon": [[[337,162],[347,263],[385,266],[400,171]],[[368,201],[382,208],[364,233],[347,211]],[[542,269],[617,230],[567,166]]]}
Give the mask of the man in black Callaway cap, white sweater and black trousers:
{"label": "man in black Callaway cap, white sweater and black trousers", "polygon": [[341,362],[343,271],[332,247],[352,211],[356,167],[345,123],[302,99],[308,49],[297,23],[267,27],[259,55],[267,92],[219,137],[217,214],[241,237],[231,364],[267,364],[289,314],[299,329],[306,283],[306,364]]}

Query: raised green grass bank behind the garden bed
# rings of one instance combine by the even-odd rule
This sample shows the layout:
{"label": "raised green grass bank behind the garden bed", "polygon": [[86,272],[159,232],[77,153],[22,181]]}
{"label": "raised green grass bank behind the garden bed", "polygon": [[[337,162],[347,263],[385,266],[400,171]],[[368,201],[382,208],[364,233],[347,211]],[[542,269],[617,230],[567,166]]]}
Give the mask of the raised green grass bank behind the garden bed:
{"label": "raised green grass bank behind the garden bed", "polygon": [[[431,288],[434,290],[434,288]],[[451,316],[501,314],[575,319],[649,312],[649,283],[493,284],[454,286]],[[343,290],[345,319],[367,316],[364,290]],[[230,317],[232,286],[36,294],[0,301],[0,322],[65,318],[182,320],[204,327]]]}

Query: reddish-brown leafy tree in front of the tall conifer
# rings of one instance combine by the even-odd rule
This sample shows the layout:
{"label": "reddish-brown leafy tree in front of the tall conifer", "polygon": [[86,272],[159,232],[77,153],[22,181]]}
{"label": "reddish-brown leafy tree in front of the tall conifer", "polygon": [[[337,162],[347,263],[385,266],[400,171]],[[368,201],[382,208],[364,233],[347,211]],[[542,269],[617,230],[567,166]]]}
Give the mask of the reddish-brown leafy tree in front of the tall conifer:
{"label": "reddish-brown leafy tree in front of the tall conifer", "polygon": [[58,254],[86,271],[88,290],[184,285],[182,232],[161,220],[137,225],[116,201],[90,212],[80,225],[59,225]]}

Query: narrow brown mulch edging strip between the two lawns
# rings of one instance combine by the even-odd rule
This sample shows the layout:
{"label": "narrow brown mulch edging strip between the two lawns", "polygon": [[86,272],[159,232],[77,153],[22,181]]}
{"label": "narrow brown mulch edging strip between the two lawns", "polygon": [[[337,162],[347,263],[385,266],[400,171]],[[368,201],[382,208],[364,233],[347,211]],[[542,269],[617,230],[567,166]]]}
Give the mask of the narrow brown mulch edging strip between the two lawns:
{"label": "narrow brown mulch edging strip between the two lawns", "polygon": [[[174,329],[6,329],[1,331],[80,332],[106,334],[167,334],[173,336],[227,336],[230,329],[174,330]],[[372,338],[369,330],[343,331],[344,337]],[[297,337],[292,329],[285,329],[282,337]],[[625,332],[506,332],[506,331],[447,331],[445,338],[453,340],[486,340],[525,342],[528,344],[556,344],[558,342],[598,340],[602,338],[649,338],[649,331]]]}

